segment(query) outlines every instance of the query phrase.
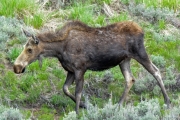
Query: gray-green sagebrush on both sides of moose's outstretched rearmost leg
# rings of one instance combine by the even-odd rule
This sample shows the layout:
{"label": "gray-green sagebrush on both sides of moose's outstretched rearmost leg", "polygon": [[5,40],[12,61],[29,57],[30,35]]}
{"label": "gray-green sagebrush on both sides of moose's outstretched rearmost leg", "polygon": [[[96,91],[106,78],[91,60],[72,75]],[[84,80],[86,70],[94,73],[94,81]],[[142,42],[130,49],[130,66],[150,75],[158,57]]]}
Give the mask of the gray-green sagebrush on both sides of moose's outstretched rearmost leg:
{"label": "gray-green sagebrush on both sides of moose's outstretched rearmost leg", "polygon": [[[165,69],[165,76],[163,77],[163,82],[165,88],[168,91],[174,91],[178,89],[176,87],[176,76],[174,74],[174,71],[175,68],[173,65]],[[146,76],[143,76],[144,74],[146,74]],[[151,74],[149,74],[147,71],[143,70],[140,73],[140,77],[136,80],[134,84],[134,91],[137,93],[153,91],[155,95],[158,95],[160,93],[160,88],[154,77]]]}

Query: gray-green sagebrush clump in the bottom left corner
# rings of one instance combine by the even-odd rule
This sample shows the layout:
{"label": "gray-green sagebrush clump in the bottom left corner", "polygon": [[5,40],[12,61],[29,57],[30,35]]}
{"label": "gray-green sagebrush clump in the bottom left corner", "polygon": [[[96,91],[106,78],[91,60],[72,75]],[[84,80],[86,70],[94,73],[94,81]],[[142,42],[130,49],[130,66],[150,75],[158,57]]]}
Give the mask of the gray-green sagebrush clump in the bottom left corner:
{"label": "gray-green sagebrush clump in the bottom left corner", "polygon": [[23,115],[19,109],[0,105],[0,120],[23,120]]}

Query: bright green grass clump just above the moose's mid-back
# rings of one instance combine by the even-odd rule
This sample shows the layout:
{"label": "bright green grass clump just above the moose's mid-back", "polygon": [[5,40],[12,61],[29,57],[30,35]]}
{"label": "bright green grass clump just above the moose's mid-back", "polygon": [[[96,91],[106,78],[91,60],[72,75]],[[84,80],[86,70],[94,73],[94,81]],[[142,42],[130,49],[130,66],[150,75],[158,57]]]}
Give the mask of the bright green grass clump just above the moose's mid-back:
{"label": "bright green grass clump just above the moose's mid-back", "polygon": [[120,15],[117,14],[112,18],[111,17],[107,18],[107,16],[101,10],[103,9],[102,6],[98,5],[97,3],[90,5],[89,2],[90,1],[87,1],[85,3],[82,2],[75,3],[71,8],[71,13],[69,15],[69,18],[80,20],[88,25],[95,27],[105,26],[108,20],[111,23],[114,23],[128,19],[126,13],[122,13]]}

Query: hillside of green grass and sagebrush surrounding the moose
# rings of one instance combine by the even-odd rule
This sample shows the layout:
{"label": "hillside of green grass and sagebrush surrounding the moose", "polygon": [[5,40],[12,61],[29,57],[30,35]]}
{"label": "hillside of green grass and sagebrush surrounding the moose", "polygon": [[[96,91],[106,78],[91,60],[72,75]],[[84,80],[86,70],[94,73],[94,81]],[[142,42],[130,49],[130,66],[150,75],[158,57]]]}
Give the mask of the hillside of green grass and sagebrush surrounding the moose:
{"label": "hillside of green grass and sagebrush surrounding the moose", "polygon": [[[176,24],[173,21],[180,17],[180,0],[70,0],[60,3],[58,9],[52,9],[52,5],[51,0],[0,1],[0,119],[178,119],[180,31],[178,21]],[[121,108],[116,103],[125,80],[119,66],[102,72],[87,71],[82,100],[88,109],[81,109],[78,117],[75,103],[62,91],[67,73],[57,59],[44,58],[41,67],[35,61],[24,74],[14,74],[12,64],[26,43],[22,28],[35,33],[33,28],[46,31],[68,20],[80,20],[93,27],[126,20],[140,24],[145,33],[145,47],[162,73],[172,108],[164,109],[156,80],[135,60],[131,61],[131,70],[136,82]],[[55,21],[58,22],[54,24]],[[47,23],[51,23],[49,28],[44,27]],[[72,94],[74,88],[73,84]],[[13,106],[17,109],[9,108]]]}

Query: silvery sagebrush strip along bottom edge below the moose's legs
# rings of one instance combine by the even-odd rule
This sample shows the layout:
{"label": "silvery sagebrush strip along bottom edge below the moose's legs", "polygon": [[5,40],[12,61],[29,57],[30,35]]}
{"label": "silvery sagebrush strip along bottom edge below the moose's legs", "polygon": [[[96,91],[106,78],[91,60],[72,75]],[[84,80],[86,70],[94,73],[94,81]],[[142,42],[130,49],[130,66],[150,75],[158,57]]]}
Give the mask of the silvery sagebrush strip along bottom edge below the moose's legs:
{"label": "silvery sagebrush strip along bottom edge below the moose's legs", "polygon": [[[112,104],[109,100],[103,108],[87,103],[87,111],[83,112],[80,120],[158,120],[161,116],[160,105],[157,99],[141,101],[137,106],[131,104],[125,107]],[[75,120],[75,112],[65,115],[64,120]]]}

